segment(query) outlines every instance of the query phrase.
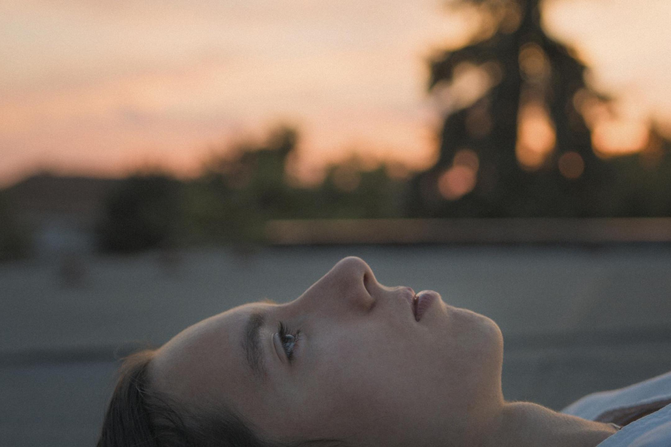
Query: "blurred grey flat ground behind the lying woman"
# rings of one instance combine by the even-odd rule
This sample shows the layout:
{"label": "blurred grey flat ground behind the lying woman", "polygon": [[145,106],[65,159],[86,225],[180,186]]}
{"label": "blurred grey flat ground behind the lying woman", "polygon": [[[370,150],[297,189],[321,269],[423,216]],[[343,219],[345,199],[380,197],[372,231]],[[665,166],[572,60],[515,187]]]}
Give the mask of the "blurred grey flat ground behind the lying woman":
{"label": "blurred grey flat ground behind the lying woman", "polygon": [[[347,255],[493,318],[509,400],[560,409],[671,370],[668,245],[227,249],[0,265],[0,446],[91,446],[114,350],[301,294]],[[449,373],[446,371],[446,373]]]}

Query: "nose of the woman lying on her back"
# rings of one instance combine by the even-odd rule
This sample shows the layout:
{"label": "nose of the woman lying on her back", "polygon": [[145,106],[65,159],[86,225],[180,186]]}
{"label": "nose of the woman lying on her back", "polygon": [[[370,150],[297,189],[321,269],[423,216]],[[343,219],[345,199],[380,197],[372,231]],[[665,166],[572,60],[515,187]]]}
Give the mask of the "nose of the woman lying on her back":
{"label": "nose of the woman lying on her back", "polygon": [[375,304],[378,283],[368,264],[359,257],[346,257],[314,283],[299,299],[306,306],[325,312],[367,312]]}

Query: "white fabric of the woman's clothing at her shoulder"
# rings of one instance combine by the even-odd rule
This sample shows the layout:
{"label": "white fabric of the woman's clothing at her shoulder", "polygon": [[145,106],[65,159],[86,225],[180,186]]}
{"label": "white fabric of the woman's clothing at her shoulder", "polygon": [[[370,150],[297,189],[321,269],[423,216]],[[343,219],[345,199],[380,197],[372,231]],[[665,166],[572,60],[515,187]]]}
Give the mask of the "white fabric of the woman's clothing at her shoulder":
{"label": "white fabric of the woman's clothing at her shoulder", "polygon": [[[593,393],[563,413],[595,420],[605,411],[671,398],[671,372],[629,387]],[[671,447],[671,405],[624,426],[597,447]]]}

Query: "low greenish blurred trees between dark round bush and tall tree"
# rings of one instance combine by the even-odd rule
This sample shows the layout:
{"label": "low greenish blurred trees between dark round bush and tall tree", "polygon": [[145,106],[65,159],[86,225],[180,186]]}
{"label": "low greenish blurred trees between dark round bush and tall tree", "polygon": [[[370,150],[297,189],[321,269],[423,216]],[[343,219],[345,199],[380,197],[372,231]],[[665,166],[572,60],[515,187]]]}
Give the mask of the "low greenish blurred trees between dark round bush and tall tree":
{"label": "low greenish blurred trees between dark round bush and tall tree", "polygon": [[270,219],[399,215],[402,185],[384,166],[366,172],[356,158],[331,166],[317,188],[291,186],[287,164],[298,139],[295,129],[280,125],[264,143],[248,142],[209,159],[187,193],[197,239],[260,242]]}

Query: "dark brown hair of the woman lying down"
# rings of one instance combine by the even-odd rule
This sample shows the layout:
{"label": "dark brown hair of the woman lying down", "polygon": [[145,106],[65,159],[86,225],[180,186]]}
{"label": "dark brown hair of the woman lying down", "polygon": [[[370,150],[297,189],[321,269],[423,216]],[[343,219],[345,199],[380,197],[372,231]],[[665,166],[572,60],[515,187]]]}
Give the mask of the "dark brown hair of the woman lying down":
{"label": "dark brown hair of the woman lying down", "polygon": [[335,440],[280,444],[262,440],[227,408],[195,409],[152,389],[148,367],[154,350],[123,361],[97,447],[287,447],[338,446]]}

